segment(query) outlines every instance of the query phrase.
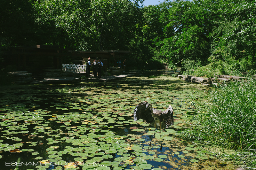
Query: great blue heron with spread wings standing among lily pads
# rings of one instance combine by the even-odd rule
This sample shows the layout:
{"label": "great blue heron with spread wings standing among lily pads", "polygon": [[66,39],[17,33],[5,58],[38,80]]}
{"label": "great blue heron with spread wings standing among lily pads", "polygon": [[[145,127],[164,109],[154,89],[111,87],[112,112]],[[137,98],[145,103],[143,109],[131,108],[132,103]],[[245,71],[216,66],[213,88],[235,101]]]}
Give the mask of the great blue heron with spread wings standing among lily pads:
{"label": "great blue heron with spread wings standing among lily pads", "polygon": [[[148,109],[149,108],[149,109]],[[137,121],[139,119],[146,120],[147,123],[155,126],[155,133],[156,134],[156,127],[160,127],[160,139],[161,139],[161,152],[162,152],[162,134],[161,134],[161,128],[169,128],[169,126],[173,125],[173,109],[172,106],[169,105],[169,107],[162,112],[161,110],[156,110],[152,107],[151,104],[149,104],[147,101],[141,102],[138,104],[134,111],[133,111],[133,117],[134,121]],[[152,137],[148,149],[150,149],[151,142],[154,138]]]}

